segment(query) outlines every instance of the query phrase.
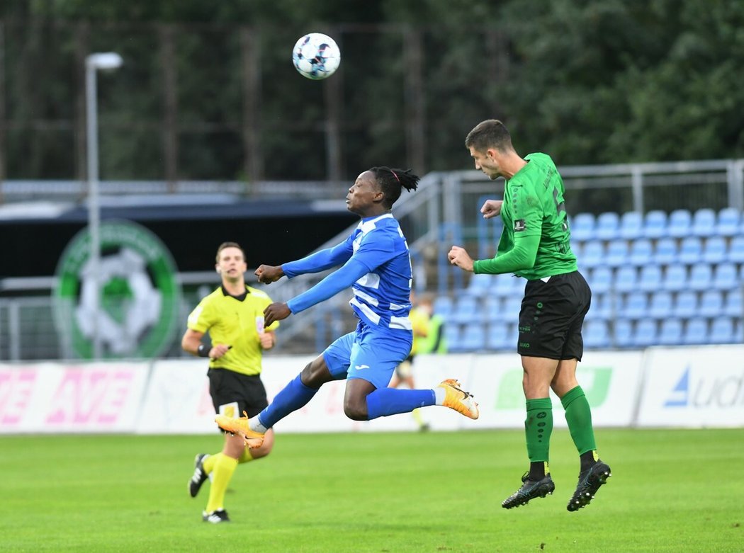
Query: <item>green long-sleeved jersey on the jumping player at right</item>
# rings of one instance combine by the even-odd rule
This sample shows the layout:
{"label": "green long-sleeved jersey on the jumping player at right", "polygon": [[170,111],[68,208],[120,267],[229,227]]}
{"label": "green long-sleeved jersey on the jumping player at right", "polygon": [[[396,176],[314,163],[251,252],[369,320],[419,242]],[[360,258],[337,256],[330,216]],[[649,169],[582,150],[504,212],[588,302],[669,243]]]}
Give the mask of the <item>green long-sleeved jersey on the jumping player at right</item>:
{"label": "green long-sleeved jersey on the jumping player at right", "polygon": [[[563,180],[549,155],[534,153],[525,157],[527,165],[510,178],[504,187],[501,220],[504,230],[494,259],[475,262],[475,273],[511,273],[529,280],[577,270],[576,256],[571,251],[563,204]],[[508,253],[522,239],[537,245],[532,267],[519,267],[508,262]],[[505,256],[503,259],[499,259]],[[511,265],[511,266],[510,266]]]}

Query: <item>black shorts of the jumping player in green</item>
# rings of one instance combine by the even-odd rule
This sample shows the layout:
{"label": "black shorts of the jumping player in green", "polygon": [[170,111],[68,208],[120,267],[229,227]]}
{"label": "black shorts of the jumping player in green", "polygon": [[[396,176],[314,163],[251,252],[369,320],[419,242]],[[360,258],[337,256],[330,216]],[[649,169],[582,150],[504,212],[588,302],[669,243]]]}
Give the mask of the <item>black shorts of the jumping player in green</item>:
{"label": "black shorts of the jumping player in green", "polygon": [[519,355],[581,360],[581,326],[591,305],[591,289],[579,271],[528,280],[519,311]]}

